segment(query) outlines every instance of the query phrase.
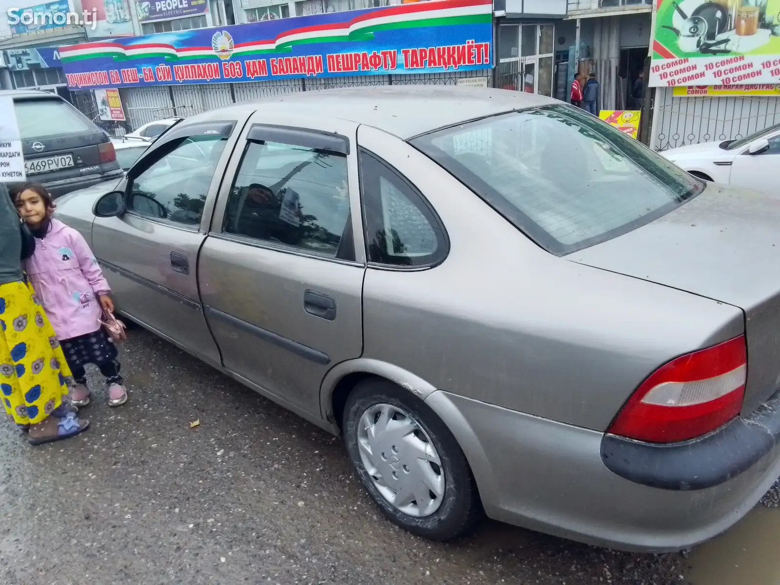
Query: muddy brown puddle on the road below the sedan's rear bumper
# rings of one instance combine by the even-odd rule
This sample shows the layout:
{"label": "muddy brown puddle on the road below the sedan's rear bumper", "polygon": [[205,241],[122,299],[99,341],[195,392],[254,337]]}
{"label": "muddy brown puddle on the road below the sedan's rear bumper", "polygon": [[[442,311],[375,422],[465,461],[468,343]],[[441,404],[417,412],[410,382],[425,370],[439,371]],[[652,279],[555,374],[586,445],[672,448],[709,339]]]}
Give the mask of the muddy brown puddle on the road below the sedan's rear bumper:
{"label": "muddy brown puddle on the road below the sedan's rear bumper", "polygon": [[691,585],[780,585],[780,508],[757,505],[689,559]]}

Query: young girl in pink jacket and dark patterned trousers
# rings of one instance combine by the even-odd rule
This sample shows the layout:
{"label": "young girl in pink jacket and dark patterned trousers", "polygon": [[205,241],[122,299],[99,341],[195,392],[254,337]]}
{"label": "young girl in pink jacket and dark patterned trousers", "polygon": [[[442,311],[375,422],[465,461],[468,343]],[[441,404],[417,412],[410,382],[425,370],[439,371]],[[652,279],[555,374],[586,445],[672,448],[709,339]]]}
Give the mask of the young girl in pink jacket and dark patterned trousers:
{"label": "young girl in pink jacket and dark patterned trousers", "polygon": [[25,270],[76,380],[71,402],[74,406],[90,402],[84,366],[94,363],[108,385],[108,406],[124,404],[127,392],[119,375],[116,347],[100,322],[103,310],[114,311],[114,303],[97,260],[79,232],[51,217],[54,206],[44,186],[25,183],[12,196],[36,238],[35,253],[25,261]]}

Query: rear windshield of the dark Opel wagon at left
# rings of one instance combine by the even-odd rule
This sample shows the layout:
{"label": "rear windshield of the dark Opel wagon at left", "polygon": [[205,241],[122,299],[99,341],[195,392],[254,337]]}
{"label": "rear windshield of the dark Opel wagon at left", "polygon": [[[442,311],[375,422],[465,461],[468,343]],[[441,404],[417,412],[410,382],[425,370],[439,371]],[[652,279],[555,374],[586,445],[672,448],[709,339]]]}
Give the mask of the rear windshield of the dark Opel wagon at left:
{"label": "rear windshield of the dark Opel wagon at left", "polygon": [[14,102],[22,140],[94,132],[97,126],[59,99]]}

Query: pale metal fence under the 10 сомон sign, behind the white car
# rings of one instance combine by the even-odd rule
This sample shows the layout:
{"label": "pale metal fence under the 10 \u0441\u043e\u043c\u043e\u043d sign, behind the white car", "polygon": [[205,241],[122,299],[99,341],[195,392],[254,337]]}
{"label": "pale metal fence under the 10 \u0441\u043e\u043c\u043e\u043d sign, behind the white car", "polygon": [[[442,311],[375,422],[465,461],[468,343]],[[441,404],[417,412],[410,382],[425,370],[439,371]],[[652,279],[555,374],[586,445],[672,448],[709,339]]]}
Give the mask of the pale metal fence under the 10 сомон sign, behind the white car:
{"label": "pale metal fence under the 10 \u0441\u043e\u043c\u043e\u043d sign, behind the white car", "polygon": [[780,97],[676,97],[671,87],[655,93],[651,147],[656,151],[739,140],[780,123]]}

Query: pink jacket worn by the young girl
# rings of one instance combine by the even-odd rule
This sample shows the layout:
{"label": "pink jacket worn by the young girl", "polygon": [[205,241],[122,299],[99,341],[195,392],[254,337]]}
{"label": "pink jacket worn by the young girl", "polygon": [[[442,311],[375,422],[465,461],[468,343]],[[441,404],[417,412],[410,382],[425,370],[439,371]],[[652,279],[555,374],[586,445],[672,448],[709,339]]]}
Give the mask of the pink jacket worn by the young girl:
{"label": "pink jacket worn by the young girl", "polygon": [[97,296],[111,289],[83,236],[57,219],[24,262],[59,339],[96,332],[103,310]]}

